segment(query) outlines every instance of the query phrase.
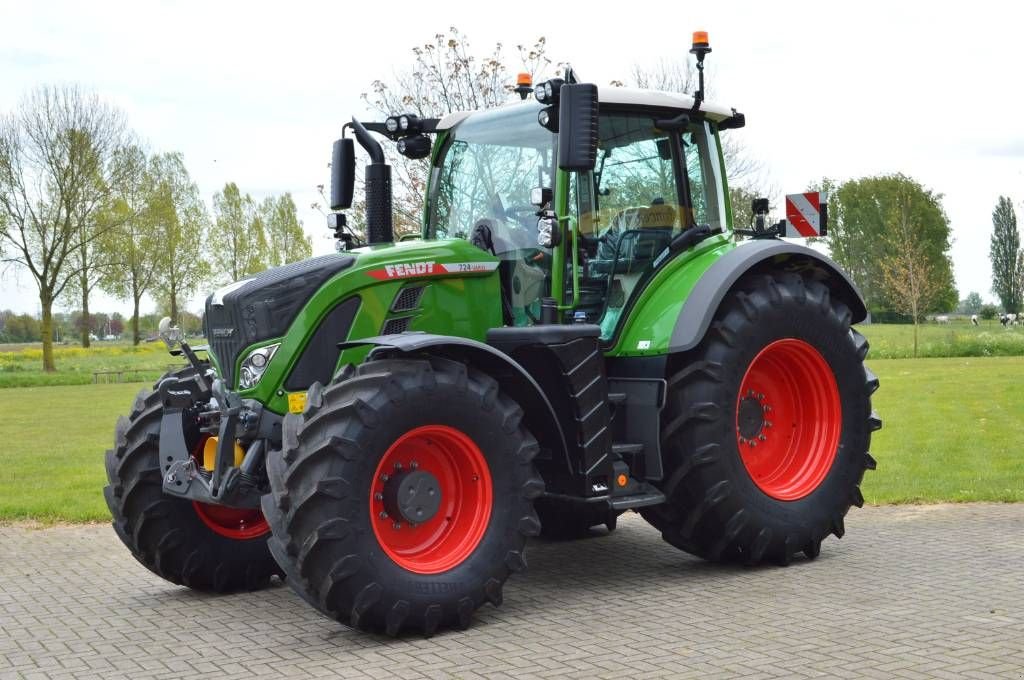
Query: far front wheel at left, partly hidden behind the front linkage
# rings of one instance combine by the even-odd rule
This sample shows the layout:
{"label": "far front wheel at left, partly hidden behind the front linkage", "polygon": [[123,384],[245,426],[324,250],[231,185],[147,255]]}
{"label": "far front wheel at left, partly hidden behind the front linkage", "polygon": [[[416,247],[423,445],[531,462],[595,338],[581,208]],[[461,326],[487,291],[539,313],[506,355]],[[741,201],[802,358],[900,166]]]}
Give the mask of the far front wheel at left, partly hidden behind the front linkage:
{"label": "far front wheel at left, partly hidden behind the front linkage", "polygon": [[[194,373],[185,368],[168,375]],[[281,569],[267,549],[270,530],[260,511],[164,495],[162,414],[160,395],[143,389],[131,414],[118,420],[103,488],[118,538],[142,565],[171,583],[218,593],[265,587]]]}

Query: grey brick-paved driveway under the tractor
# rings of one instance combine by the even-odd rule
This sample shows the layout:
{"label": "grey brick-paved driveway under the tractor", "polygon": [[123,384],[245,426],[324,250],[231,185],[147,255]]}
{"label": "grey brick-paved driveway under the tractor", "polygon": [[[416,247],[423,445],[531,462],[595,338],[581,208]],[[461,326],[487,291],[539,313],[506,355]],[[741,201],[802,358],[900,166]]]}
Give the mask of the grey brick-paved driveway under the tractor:
{"label": "grey brick-paved driveway under the tractor", "polygon": [[787,568],[623,519],[535,543],[501,609],[429,640],[353,633],[286,587],[170,586],[105,525],[0,527],[0,677],[1024,677],[1024,505],[854,510]]}

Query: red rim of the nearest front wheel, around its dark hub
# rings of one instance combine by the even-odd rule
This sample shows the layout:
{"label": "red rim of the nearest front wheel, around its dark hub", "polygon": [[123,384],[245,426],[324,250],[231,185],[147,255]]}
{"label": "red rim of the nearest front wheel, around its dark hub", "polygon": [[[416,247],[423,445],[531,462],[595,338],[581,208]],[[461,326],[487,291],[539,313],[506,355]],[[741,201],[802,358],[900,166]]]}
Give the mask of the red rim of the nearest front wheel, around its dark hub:
{"label": "red rim of the nearest front wheel, around its dark hub", "polygon": [[[420,523],[388,514],[385,484],[402,470],[433,475],[440,492],[436,513]],[[445,425],[410,430],[384,453],[370,488],[370,521],[381,548],[398,566],[439,573],[476,549],[490,521],[490,469],[479,447]]]}

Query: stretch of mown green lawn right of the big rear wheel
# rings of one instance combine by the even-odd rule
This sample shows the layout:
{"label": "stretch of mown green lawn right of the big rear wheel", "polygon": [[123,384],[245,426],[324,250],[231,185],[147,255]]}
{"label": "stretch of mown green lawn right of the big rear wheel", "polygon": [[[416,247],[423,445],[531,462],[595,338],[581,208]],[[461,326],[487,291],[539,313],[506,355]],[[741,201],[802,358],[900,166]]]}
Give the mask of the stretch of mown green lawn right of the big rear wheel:
{"label": "stretch of mown green lawn right of the big rear wheel", "polygon": [[[872,348],[873,349],[873,348]],[[869,503],[1024,501],[1024,356],[868,360],[885,427]]]}

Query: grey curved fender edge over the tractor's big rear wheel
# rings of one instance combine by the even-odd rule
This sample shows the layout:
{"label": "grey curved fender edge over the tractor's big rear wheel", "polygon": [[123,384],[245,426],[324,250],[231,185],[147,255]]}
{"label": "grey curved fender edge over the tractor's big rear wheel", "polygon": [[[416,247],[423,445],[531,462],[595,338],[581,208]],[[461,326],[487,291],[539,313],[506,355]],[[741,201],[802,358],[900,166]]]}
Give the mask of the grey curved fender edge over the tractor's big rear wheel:
{"label": "grey curved fender edge over the tractor's big rear wheel", "polygon": [[831,259],[821,253],[785,241],[751,241],[720,257],[705,271],[683,303],[676,318],[670,352],[697,346],[711,326],[723,298],[746,274],[767,270],[812,271],[831,294],[850,309],[852,323],[864,321],[867,308],[856,285]]}

